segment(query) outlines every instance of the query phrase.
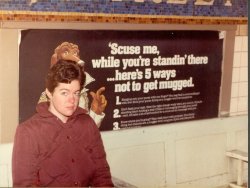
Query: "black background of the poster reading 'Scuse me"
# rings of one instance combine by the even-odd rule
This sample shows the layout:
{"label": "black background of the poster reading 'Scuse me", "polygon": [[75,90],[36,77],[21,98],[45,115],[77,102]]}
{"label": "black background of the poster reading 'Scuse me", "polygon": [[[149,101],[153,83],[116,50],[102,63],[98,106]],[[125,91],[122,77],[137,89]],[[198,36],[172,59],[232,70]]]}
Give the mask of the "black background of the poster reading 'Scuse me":
{"label": "black background of the poster reading 'Scuse me", "polygon": [[[85,70],[96,79],[87,87],[96,91],[105,86],[108,106],[100,130],[157,125],[169,122],[197,120],[218,116],[221,85],[223,40],[217,31],[112,31],[112,30],[23,30],[19,49],[19,121],[35,112],[44,79],[54,49],[67,41],[79,46]],[[140,49],[139,54],[111,54],[110,45]],[[151,46],[145,54],[143,48]],[[132,49],[130,48],[130,49]],[[156,54],[156,52],[159,54]],[[129,52],[131,53],[131,52]],[[188,57],[207,58],[206,64],[188,64]],[[92,62],[112,58],[119,67],[94,68]],[[142,65],[140,57],[149,58],[150,66]],[[184,65],[153,65],[154,58],[172,58],[172,63],[184,58]],[[135,59],[124,69],[124,59]],[[109,61],[112,63],[112,61]],[[146,70],[147,69],[147,70]],[[172,75],[157,78],[153,72]],[[172,73],[171,73],[172,71]],[[119,73],[118,73],[119,72]],[[139,72],[139,73],[138,73]],[[159,72],[158,72],[159,73]],[[121,74],[123,76],[121,76]],[[147,79],[147,76],[150,78]],[[130,78],[129,75],[134,75]],[[151,75],[151,76],[150,76]],[[164,74],[161,74],[164,77]],[[120,77],[123,80],[119,80]],[[166,76],[166,74],[165,74]],[[111,78],[111,79],[110,79]],[[116,78],[113,79],[112,78]],[[160,82],[192,79],[193,87],[160,89]],[[186,82],[186,81],[185,81]],[[133,88],[137,85],[138,91]],[[149,92],[144,88],[151,83]],[[115,92],[117,85],[123,91]],[[141,89],[139,88],[141,87]]]}

